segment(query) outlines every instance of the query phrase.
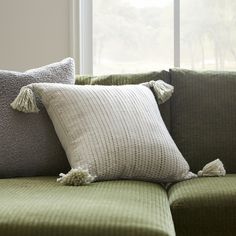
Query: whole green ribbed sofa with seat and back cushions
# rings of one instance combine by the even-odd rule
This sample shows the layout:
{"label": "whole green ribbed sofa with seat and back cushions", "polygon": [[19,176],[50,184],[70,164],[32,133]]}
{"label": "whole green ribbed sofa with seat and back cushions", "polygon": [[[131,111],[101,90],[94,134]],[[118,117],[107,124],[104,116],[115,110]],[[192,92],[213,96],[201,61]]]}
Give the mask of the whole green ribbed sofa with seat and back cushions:
{"label": "whole green ribbed sofa with seat and back cushions", "polygon": [[236,73],[170,70],[139,75],[77,76],[77,84],[162,79],[175,87],[160,111],[196,172],[220,158],[225,177],[170,186],[142,181],[62,186],[56,177],[0,180],[0,235],[236,235]]}

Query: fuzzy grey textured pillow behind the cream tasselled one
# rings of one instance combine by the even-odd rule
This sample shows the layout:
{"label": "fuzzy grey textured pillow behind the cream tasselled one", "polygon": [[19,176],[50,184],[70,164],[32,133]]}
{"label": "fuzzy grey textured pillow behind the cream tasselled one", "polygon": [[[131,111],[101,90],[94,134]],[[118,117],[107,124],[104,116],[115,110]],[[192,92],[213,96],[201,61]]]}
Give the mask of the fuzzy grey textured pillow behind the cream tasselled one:
{"label": "fuzzy grey textured pillow behind the cream tasselled one", "polygon": [[24,73],[0,71],[0,177],[57,175],[69,168],[65,152],[46,110],[22,114],[11,109],[22,86],[30,83],[74,83],[74,61]]}

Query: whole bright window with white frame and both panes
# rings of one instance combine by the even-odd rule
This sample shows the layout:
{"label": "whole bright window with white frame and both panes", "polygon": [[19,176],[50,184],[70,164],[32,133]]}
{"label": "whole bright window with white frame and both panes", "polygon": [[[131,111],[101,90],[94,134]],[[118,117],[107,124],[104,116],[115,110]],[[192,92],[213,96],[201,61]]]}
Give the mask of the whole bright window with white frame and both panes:
{"label": "whole bright window with white frame and both panes", "polygon": [[80,72],[236,68],[234,0],[80,0]]}

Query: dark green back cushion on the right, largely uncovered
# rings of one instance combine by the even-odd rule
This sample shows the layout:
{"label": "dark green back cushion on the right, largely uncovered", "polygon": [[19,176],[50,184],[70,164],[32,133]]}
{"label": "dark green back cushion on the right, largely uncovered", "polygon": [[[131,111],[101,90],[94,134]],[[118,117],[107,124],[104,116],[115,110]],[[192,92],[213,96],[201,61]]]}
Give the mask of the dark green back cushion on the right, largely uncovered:
{"label": "dark green back cushion on the right, largely uncovered", "polygon": [[221,159],[236,173],[236,72],[170,70],[171,134],[192,171]]}

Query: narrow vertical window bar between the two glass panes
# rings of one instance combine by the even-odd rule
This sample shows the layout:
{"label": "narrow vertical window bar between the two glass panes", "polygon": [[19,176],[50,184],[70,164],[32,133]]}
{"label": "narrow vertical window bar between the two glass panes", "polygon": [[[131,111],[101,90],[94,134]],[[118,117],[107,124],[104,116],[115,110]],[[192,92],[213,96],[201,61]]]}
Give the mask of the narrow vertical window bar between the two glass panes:
{"label": "narrow vertical window bar between the two glass panes", "polygon": [[174,0],[174,67],[180,67],[180,0]]}

